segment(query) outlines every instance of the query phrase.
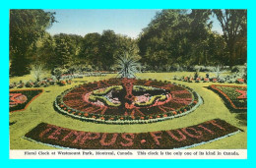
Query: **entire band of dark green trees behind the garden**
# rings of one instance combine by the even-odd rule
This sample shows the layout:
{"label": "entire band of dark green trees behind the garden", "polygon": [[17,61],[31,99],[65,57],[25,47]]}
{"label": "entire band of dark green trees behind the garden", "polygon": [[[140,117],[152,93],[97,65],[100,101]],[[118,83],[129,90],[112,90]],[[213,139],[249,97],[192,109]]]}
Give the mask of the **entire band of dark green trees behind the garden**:
{"label": "entire band of dark green trees behind the garden", "polygon": [[[212,31],[216,16],[224,34]],[[246,10],[162,10],[137,39],[106,29],[102,33],[50,35],[54,13],[10,11],[12,76],[30,73],[32,64],[48,70],[82,67],[117,71],[117,58],[129,53],[143,71],[189,70],[192,66],[235,66],[247,61]]]}

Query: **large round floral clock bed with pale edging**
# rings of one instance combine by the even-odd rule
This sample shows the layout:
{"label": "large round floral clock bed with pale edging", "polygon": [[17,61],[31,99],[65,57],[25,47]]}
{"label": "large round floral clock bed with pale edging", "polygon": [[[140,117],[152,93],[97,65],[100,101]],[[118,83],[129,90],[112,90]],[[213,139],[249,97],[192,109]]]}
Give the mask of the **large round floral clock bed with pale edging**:
{"label": "large round floral clock bed with pale edging", "polygon": [[109,124],[151,123],[183,116],[202,103],[185,85],[135,79],[83,84],[57,96],[56,109],[77,119]]}

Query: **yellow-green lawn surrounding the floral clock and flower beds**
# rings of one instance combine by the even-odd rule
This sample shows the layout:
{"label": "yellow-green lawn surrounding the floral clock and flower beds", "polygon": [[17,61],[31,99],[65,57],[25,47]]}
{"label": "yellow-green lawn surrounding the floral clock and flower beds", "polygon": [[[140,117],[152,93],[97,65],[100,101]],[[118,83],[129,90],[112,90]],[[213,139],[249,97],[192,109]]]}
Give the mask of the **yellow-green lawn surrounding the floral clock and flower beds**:
{"label": "yellow-green lawn surrounding the floral clock and flower beds", "polygon": [[[211,143],[198,145],[193,148],[247,148],[247,114],[231,113],[225,107],[224,101],[221,99],[221,97],[214,91],[207,88],[208,85],[213,83],[195,84],[173,81],[171,79],[174,75],[178,77],[189,75],[193,76],[193,73],[144,73],[138,74],[138,78],[157,79],[161,81],[170,81],[178,84],[186,84],[196,90],[204,99],[204,104],[190,114],[187,114],[180,118],[175,118],[172,120],[153,124],[105,125],[82,122],[56,112],[53,109],[53,102],[56,96],[59,95],[62,91],[77,84],[113,78],[116,75],[111,74],[107,75],[106,77],[86,77],[84,79],[73,80],[73,84],[65,86],[51,85],[45,88],[43,87],[44,92],[36,99],[34,99],[26,110],[10,113],[10,122],[16,122],[14,125],[10,126],[10,147],[11,149],[54,149],[54,147],[35,143],[30,140],[25,140],[23,138],[26,133],[28,133],[41,122],[86,132],[140,133],[183,128],[197,125],[211,119],[220,118],[227,123],[238,127],[244,132],[225,138],[223,140],[216,140]],[[205,77],[205,73],[200,73],[200,76]],[[19,82],[20,80],[29,81],[32,80],[32,76],[12,78],[10,79],[10,83]]]}

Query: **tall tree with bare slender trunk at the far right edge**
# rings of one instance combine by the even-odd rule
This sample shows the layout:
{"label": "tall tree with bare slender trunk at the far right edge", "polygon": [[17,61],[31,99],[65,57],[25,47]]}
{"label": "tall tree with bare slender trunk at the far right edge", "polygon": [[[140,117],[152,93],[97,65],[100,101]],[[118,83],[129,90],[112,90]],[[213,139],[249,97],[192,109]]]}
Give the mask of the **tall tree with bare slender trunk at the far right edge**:
{"label": "tall tree with bare slender trunk at the far right edge", "polygon": [[[237,63],[235,62],[237,57],[235,46],[237,46],[239,39],[242,39],[242,36],[247,36],[247,10],[213,10],[213,12],[223,28],[224,41],[229,53],[229,65],[233,66]],[[246,39],[243,43],[246,47]],[[246,60],[246,54],[244,57]]]}

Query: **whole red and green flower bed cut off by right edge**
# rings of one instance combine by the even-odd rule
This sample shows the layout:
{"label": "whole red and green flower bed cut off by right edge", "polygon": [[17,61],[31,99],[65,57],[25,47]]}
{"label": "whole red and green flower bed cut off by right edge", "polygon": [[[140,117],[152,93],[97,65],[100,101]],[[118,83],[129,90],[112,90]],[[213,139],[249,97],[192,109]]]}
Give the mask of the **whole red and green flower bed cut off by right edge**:
{"label": "whole red and green flower bed cut off by right edge", "polygon": [[247,110],[247,86],[212,84],[209,86],[232,110]]}

